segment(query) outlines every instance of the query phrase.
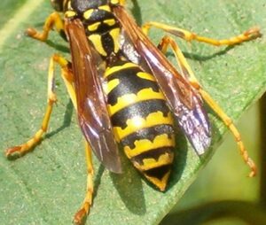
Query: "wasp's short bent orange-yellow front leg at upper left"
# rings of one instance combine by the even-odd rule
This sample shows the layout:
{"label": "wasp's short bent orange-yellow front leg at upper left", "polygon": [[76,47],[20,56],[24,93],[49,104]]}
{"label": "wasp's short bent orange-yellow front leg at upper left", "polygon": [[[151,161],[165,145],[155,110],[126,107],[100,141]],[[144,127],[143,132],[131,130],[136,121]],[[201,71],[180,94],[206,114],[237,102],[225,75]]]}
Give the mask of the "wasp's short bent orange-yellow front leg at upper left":
{"label": "wasp's short bent orange-yellow front leg at upper left", "polygon": [[48,38],[49,32],[51,29],[55,27],[56,30],[59,32],[64,39],[66,39],[65,29],[64,29],[64,22],[61,19],[58,12],[52,12],[49,17],[45,20],[43,26],[43,32],[37,32],[35,28],[27,28],[26,34],[32,38],[35,38],[39,41],[45,42]]}

